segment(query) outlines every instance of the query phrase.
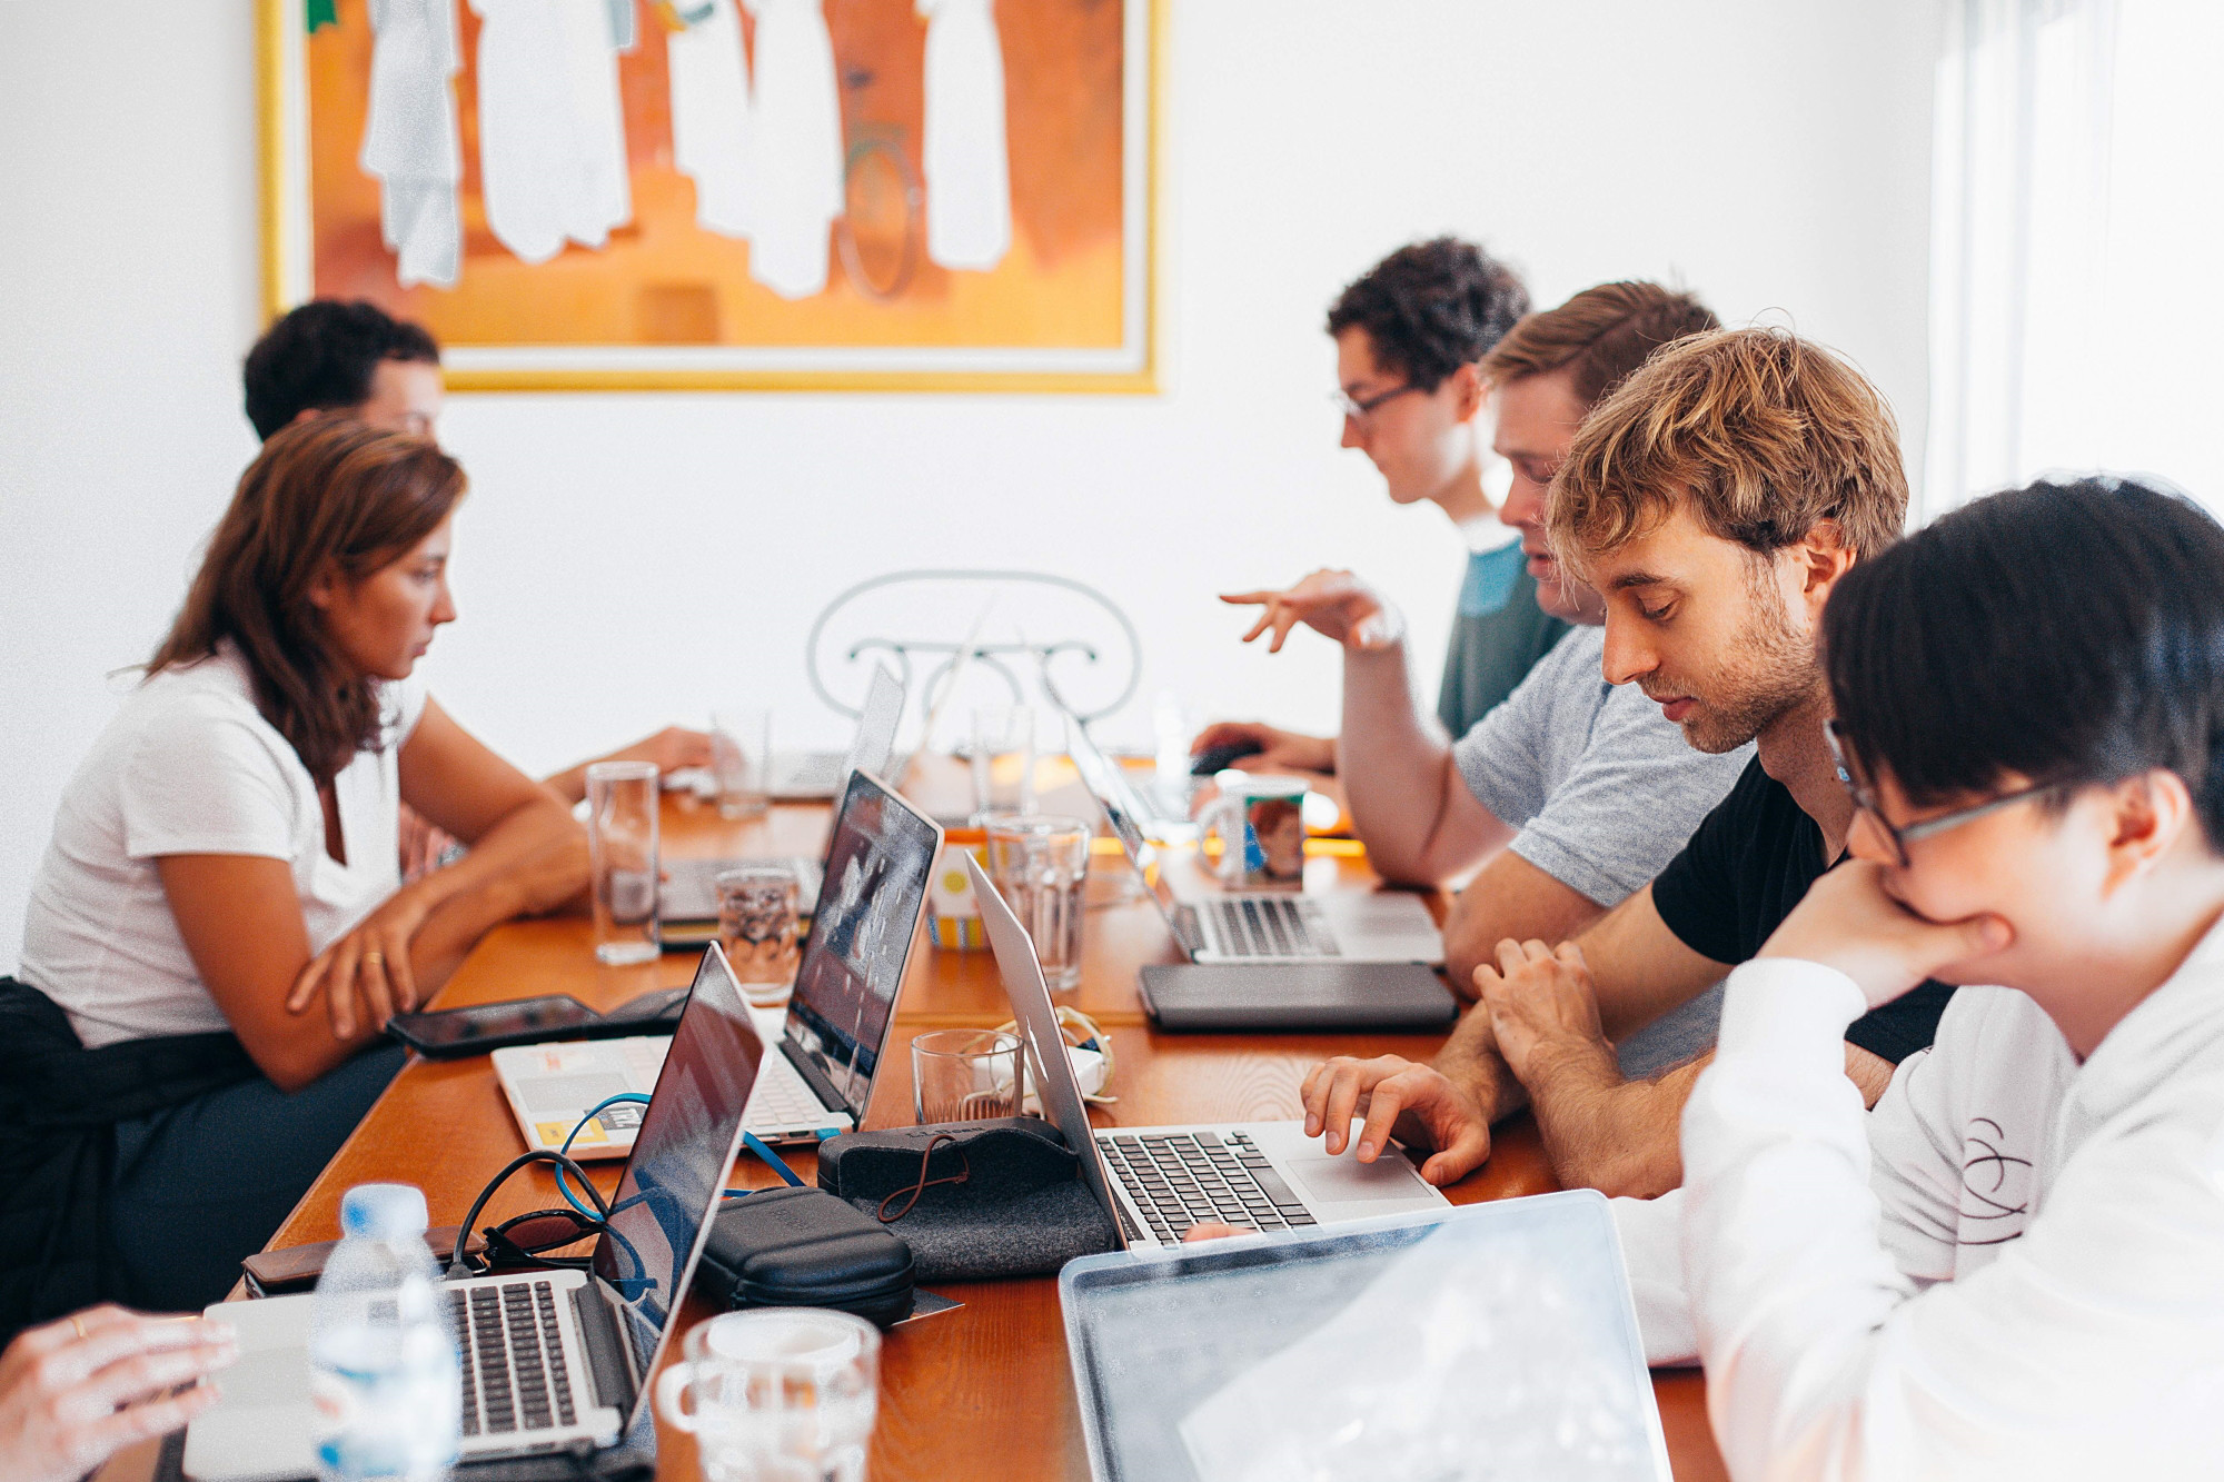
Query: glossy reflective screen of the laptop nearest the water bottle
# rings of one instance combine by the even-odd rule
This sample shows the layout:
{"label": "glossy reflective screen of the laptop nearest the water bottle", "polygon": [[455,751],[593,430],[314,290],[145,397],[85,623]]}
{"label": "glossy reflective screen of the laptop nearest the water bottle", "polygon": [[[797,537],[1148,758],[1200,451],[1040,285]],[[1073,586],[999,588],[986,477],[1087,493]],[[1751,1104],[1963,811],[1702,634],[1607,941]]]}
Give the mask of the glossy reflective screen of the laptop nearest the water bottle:
{"label": "glossy reflective screen of the laptop nearest the water bottle", "polygon": [[725,1184],[763,1059],[732,970],[716,948],[705,950],[609,1202],[607,1233],[594,1246],[596,1275],[625,1300],[620,1326],[643,1375],[685,1295],[687,1262]]}

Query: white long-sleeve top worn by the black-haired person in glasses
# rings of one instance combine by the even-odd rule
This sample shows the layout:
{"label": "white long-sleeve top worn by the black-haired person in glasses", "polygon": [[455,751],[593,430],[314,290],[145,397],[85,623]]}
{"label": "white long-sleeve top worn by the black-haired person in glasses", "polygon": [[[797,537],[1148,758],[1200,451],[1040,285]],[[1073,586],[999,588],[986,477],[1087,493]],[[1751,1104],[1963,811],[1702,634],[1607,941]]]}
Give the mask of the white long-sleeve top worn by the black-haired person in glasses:
{"label": "white long-sleeve top worn by the black-haired person in glasses", "polygon": [[1684,1188],[1617,1199],[1646,1351],[1757,1478],[2224,1475],[2224,928],[2079,1066],[1964,988],[1868,1115],[1833,968],[1730,975]]}

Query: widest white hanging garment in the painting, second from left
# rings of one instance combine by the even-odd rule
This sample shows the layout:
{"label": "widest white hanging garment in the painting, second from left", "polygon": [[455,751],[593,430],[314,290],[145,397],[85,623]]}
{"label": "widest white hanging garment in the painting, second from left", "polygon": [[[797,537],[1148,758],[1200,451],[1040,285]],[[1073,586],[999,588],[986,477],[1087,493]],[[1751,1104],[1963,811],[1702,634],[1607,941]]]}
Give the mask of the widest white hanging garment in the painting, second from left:
{"label": "widest white hanging garment in the painting, second from left", "polygon": [[634,216],[607,0],[471,0],[487,227],[525,263]]}

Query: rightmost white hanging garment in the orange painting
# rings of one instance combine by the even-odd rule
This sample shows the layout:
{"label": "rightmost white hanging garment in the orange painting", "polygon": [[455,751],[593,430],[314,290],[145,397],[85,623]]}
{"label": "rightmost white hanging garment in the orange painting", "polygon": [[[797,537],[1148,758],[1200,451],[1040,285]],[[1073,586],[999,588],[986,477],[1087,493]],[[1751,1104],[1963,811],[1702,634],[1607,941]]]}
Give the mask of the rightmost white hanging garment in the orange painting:
{"label": "rightmost white hanging garment in the orange painting", "polygon": [[1012,249],[996,0],[919,0],[927,18],[927,256],[990,269]]}

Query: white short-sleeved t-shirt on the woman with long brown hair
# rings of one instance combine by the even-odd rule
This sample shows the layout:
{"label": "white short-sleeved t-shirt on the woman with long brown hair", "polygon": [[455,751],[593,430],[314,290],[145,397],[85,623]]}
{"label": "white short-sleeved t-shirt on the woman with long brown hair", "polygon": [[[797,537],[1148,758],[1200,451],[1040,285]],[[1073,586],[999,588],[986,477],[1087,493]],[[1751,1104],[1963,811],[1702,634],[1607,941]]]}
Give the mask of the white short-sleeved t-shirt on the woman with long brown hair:
{"label": "white short-sleeved t-shirt on the woman with long brown hair", "polygon": [[262,719],[247,661],[216,656],[131,692],[62,790],[31,886],[18,975],[69,1012],[87,1048],[227,1028],[156,872],[162,854],[260,854],[294,870],[309,950],[400,888],[398,750],[425,714],[418,679],[383,685],[380,750],[334,779],[347,863],[294,745]]}

